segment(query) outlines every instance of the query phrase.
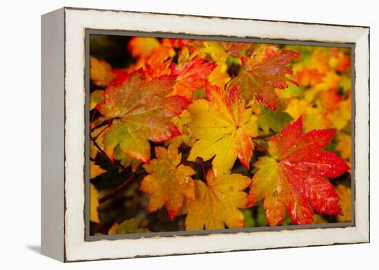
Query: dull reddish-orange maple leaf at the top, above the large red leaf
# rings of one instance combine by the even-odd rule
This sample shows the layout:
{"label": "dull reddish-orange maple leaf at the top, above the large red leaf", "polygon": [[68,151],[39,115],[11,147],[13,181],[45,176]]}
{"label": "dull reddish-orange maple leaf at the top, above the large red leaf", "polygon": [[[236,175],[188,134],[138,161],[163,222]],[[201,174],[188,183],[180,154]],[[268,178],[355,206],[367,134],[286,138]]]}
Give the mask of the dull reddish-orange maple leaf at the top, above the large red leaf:
{"label": "dull reddish-orange maple leaf at the top, above the large red leaf", "polygon": [[[263,52],[260,52],[261,50]],[[252,57],[241,58],[247,72],[236,76],[229,83],[228,88],[238,86],[247,102],[255,96],[258,102],[275,111],[278,103],[275,89],[285,89],[288,87],[287,82],[298,85],[297,82],[286,77],[287,74],[292,74],[292,70],[286,65],[298,56],[300,54],[291,50],[275,51],[272,47],[267,49],[263,47]]]}

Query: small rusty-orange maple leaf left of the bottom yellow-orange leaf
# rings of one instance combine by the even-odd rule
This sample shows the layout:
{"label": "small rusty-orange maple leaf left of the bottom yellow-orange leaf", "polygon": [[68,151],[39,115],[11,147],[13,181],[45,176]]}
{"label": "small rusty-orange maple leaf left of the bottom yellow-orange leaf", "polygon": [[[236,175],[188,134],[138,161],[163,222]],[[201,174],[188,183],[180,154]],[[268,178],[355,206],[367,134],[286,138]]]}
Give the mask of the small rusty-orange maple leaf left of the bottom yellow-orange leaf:
{"label": "small rusty-orange maple leaf left of the bottom yellow-orange leaf", "polygon": [[191,175],[196,172],[189,166],[181,163],[182,154],[170,145],[166,150],[155,147],[156,159],[150,164],[143,165],[149,173],[141,183],[140,190],[152,194],[149,201],[149,212],[166,206],[170,218],[173,220],[183,205],[183,199],[194,199],[194,181]]}

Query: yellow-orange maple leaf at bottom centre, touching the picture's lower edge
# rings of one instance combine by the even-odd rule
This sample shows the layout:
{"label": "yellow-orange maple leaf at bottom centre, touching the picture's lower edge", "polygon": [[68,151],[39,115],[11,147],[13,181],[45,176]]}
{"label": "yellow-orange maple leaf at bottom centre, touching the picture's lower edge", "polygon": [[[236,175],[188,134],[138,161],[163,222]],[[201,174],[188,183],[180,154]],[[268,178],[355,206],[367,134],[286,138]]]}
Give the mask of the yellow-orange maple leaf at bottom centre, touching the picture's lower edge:
{"label": "yellow-orange maple leaf at bottom centre, touching the picture's lower edge", "polygon": [[209,170],[207,183],[194,181],[196,198],[188,200],[183,209],[187,213],[186,230],[245,227],[245,218],[238,208],[245,208],[247,194],[243,192],[252,182],[249,177],[230,172],[216,177]]}

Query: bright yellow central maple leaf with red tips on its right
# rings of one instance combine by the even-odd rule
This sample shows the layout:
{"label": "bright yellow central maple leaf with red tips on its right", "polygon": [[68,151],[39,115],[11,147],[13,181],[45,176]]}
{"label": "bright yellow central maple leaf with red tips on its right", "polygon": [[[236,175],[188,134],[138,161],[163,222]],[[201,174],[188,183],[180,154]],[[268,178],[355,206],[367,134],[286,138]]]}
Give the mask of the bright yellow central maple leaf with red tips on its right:
{"label": "bright yellow central maple leaf with red tips on its right", "polygon": [[252,109],[244,108],[236,87],[225,93],[219,87],[207,84],[206,94],[208,100],[195,100],[188,106],[194,118],[187,125],[193,137],[198,139],[188,160],[214,157],[212,166],[216,175],[229,171],[237,157],[249,168],[254,150],[252,137],[258,133],[257,117],[252,114]]}

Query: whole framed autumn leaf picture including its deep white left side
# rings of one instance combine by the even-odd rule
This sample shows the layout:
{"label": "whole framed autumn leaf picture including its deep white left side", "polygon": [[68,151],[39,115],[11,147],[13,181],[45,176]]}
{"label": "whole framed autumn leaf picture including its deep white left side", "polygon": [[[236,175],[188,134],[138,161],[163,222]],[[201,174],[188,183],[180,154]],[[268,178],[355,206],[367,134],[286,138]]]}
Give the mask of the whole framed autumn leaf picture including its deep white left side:
{"label": "whole framed autumn leaf picture including its deep white left side", "polygon": [[42,253],[369,242],[369,27],[42,16]]}

